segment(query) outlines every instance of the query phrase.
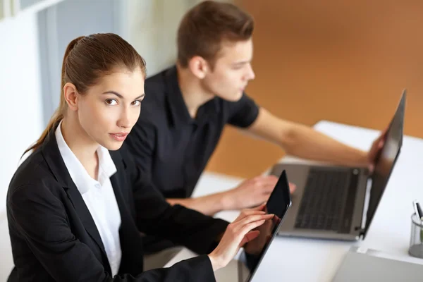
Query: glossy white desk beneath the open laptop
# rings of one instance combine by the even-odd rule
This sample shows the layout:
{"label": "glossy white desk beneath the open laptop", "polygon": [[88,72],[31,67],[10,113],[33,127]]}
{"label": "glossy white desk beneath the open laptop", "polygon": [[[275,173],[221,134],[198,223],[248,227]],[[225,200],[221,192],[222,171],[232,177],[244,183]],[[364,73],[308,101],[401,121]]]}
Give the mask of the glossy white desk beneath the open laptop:
{"label": "glossy white desk beneath the open laptop", "polygon": [[[360,149],[369,149],[376,130],[320,121],[314,128]],[[301,161],[292,157],[281,161]],[[271,164],[269,164],[271,166]],[[364,240],[357,243],[277,237],[266,253],[254,281],[331,281],[351,245],[359,245],[421,262],[407,255],[412,200],[423,201],[423,140],[404,137],[403,148]],[[233,188],[242,179],[204,173],[195,196]],[[216,216],[233,221],[238,212]]]}

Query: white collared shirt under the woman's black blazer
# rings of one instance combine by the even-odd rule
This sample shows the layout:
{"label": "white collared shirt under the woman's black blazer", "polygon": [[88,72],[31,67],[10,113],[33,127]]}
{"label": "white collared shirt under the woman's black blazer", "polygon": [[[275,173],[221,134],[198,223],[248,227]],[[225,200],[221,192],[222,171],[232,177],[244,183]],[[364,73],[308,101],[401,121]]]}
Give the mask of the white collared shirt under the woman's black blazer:
{"label": "white collared shirt under the woman's black blazer", "polygon": [[99,179],[95,180],[88,174],[63,139],[61,123],[56,129],[56,140],[66,168],[94,219],[106,250],[107,259],[109,259],[111,275],[115,276],[121,266],[122,250],[119,238],[121,213],[110,182],[110,177],[117,171],[114,161],[110,157],[109,150],[99,146],[97,149]]}

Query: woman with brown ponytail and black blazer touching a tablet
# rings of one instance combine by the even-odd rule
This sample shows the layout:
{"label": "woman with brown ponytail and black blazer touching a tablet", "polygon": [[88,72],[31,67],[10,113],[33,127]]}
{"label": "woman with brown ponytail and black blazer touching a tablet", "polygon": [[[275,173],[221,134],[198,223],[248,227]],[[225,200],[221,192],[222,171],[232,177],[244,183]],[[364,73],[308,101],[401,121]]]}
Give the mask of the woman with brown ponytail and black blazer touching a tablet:
{"label": "woman with brown ponytail and black blazer touching a tablet", "polygon": [[[259,207],[228,225],[171,207],[142,180],[122,145],[145,76],[145,61],[118,35],[68,45],[59,109],[8,188],[8,281],[214,281],[213,271],[271,218]],[[142,273],[140,232],[209,255]]]}

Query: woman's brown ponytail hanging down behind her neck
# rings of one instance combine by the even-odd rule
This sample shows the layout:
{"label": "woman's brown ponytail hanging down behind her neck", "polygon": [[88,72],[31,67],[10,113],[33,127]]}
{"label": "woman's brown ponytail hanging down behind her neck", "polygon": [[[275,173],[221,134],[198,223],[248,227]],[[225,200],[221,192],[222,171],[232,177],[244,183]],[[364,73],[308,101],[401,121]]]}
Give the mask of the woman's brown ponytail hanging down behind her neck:
{"label": "woman's brown ponytail hanging down behind her neck", "polygon": [[31,150],[38,149],[44,140],[46,140],[47,135],[49,135],[50,131],[54,128],[56,128],[57,124],[63,119],[63,116],[66,111],[66,100],[65,100],[65,94],[63,92],[63,88],[66,84],[66,63],[69,54],[73,50],[76,44],[80,41],[80,39],[84,38],[84,36],[77,37],[71,41],[71,43],[68,44],[68,47],[66,47],[65,55],[63,56],[63,63],[62,63],[62,69],[61,69],[61,91],[60,91],[60,104],[59,107],[54,111],[53,116],[51,116],[49,123],[47,124],[47,128],[44,129],[42,135],[38,138],[37,142],[35,142],[34,145],[29,147],[28,149],[23,152],[23,155],[25,155],[27,152],[30,152]]}

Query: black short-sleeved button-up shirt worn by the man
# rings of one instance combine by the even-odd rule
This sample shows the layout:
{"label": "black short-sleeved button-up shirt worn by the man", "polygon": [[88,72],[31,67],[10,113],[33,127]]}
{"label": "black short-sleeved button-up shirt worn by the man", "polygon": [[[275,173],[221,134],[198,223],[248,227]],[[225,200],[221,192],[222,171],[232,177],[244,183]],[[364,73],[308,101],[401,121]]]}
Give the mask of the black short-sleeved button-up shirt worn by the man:
{"label": "black short-sleeved button-up shirt worn by the man", "polygon": [[215,97],[191,118],[175,66],[148,78],[145,94],[140,118],[125,142],[142,173],[166,198],[190,197],[224,126],[246,128],[259,112],[243,94],[238,102]]}

